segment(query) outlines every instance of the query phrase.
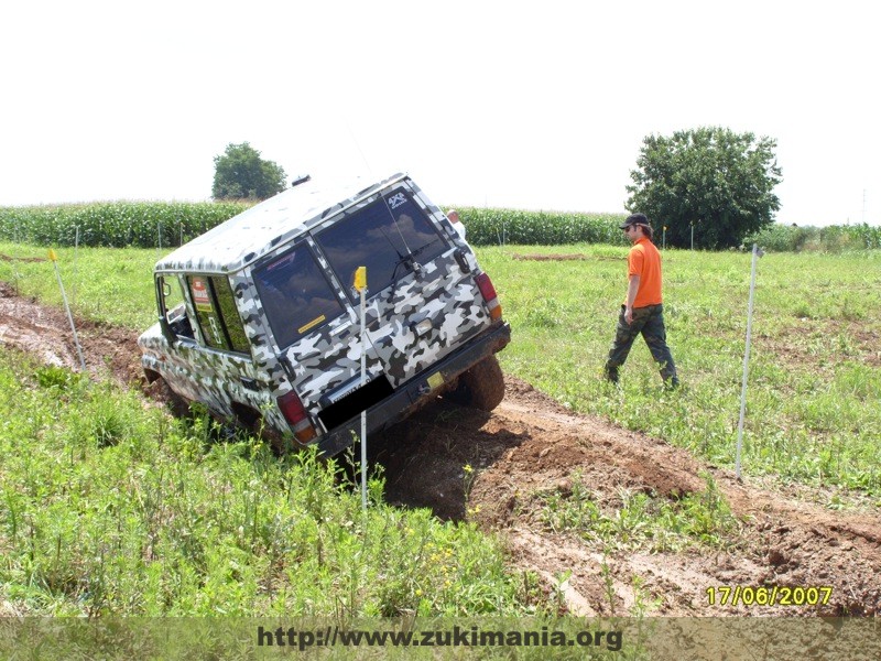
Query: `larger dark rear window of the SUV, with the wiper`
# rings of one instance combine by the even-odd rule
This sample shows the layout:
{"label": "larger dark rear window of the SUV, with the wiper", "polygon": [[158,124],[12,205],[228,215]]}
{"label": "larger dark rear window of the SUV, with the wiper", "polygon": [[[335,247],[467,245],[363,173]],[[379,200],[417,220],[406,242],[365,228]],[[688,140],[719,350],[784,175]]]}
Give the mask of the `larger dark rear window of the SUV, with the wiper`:
{"label": "larger dark rear window of the SUV, with the wiper", "polygon": [[[428,263],[447,248],[435,226],[403,191],[387,193],[322,230],[315,240],[334,271],[351,284],[358,267],[367,267],[367,286],[379,293]],[[347,288],[356,302],[356,292]]]}

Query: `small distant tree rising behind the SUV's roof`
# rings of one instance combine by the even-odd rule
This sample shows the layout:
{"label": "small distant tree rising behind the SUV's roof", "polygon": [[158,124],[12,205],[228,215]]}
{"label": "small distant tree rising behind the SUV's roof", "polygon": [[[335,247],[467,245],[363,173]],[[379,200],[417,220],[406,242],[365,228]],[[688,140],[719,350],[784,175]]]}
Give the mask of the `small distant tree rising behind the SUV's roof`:
{"label": "small distant tree rising behind the SUV's roof", "polygon": [[214,158],[215,199],[267,199],[285,189],[284,170],[273,161],[264,161],[249,143],[227,144],[226,151]]}

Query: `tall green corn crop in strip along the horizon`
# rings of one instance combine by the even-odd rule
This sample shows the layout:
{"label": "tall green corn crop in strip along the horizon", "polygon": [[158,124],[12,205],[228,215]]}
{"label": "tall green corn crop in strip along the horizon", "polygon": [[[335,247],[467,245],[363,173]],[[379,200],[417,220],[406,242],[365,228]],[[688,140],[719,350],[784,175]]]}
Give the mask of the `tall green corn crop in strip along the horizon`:
{"label": "tall green corn crop in strip along the horizon", "polygon": [[[0,207],[0,240],[37,246],[173,248],[240,214],[249,202],[110,202],[96,204]],[[624,214],[530,212],[458,207],[474,246],[624,246],[618,226]],[[662,238],[655,236],[655,241]],[[772,225],[747,237],[768,250],[881,249],[881,228],[869,225],[795,227]],[[699,243],[698,243],[699,245]]]}

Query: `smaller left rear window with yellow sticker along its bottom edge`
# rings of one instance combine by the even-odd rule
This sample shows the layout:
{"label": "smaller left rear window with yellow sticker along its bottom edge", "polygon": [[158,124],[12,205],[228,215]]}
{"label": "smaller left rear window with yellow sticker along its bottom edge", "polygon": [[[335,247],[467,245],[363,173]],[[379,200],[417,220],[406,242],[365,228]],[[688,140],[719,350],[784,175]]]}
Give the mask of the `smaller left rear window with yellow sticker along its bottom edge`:
{"label": "smaller left rear window with yellow sticker along its bottom edge", "polygon": [[281,348],[344,313],[339,299],[305,243],[258,269],[254,284]]}

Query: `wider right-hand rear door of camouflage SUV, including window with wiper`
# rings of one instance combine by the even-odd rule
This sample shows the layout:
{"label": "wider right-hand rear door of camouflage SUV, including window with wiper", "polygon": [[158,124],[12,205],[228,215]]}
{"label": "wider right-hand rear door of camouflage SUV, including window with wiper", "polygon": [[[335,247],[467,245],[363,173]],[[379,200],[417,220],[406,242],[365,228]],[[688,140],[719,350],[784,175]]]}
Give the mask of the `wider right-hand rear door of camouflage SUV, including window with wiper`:
{"label": "wider right-hand rear door of camouflage SUV, including window with wiper", "polygon": [[474,278],[456,259],[458,248],[406,185],[328,224],[315,241],[357,310],[359,294],[348,285],[367,267],[369,358],[392,389],[490,323]]}

